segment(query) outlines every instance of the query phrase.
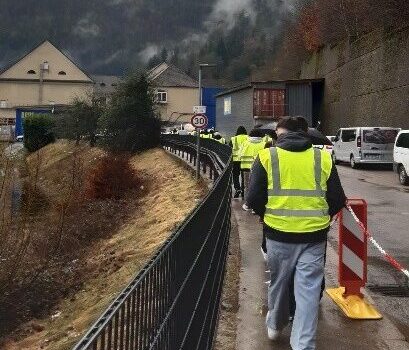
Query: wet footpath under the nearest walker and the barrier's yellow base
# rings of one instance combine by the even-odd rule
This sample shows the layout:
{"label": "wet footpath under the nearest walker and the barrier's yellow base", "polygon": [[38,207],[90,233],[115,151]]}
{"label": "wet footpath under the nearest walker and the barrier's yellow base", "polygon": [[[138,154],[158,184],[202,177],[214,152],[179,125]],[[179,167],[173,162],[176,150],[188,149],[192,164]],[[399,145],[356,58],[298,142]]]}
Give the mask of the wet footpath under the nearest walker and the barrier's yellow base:
{"label": "wet footpath under the nearest walker and the barrier's yellow base", "polygon": [[[241,201],[233,201],[233,215],[240,236],[241,270],[239,310],[237,313],[237,350],[289,350],[291,324],[280,338],[267,338],[267,282],[269,274],[260,253],[261,224],[258,218],[241,209]],[[335,234],[336,228],[332,229]],[[328,245],[326,283],[337,284],[338,255]],[[403,335],[388,318],[357,321],[346,318],[338,306],[324,294],[321,301],[317,332],[317,350],[409,350]]]}

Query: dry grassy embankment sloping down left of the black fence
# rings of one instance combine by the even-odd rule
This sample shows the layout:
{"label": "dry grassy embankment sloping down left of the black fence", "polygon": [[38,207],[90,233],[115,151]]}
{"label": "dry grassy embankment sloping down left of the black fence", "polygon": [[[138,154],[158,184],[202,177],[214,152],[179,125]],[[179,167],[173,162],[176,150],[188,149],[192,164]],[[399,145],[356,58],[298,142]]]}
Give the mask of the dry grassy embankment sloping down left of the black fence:
{"label": "dry grassy embankment sloping down left of the black fence", "polygon": [[[76,153],[73,149],[72,143],[62,141],[41,150],[38,188],[51,203],[65,196],[69,176],[64,175],[72,174],[74,157],[81,159],[86,173],[103,155],[100,149],[85,145]],[[37,157],[28,157],[28,171],[37,168]],[[0,302],[4,335],[0,348],[70,349],[205,193],[190,171],[161,149],[134,156],[131,164],[143,188],[121,200],[71,204],[58,248],[46,251],[47,255],[53,252],[46,268],[29,288],[9,288],[14,292],[14,306],[6,309],[7,300]],[[55,224],[49,220],[52,207],[43,208],[43,219],[37,215],[26,226],[33,242],[28,249],[31,263],[24,265],[28,269],[33,258],[41,257],[41,250],[33,249],[38,247],[37,240],[57,237]],[[11,334],[10,321],[15,326],[20,323]]]}

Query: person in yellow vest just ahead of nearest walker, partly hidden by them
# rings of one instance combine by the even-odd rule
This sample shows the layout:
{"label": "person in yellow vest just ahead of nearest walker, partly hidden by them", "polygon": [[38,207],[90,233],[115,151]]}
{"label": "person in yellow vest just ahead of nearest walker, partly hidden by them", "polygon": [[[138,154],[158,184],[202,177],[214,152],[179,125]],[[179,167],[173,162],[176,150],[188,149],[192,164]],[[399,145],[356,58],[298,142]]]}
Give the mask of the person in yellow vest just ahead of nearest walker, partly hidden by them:
{"label": "person in yellow vest just ahead of nearest walker, partly hidden by them", "polygon": [[[244,186],[243,193],[248,188],[251,167],[258,155],[258,152],[265,148],[266,142],[263,140],[264,133],[259,129],[250,131],[249,138],[243,143],[239,151],[240,170],[243,172]],[[251,210],[247,201],[242,206],[243,210]]]}

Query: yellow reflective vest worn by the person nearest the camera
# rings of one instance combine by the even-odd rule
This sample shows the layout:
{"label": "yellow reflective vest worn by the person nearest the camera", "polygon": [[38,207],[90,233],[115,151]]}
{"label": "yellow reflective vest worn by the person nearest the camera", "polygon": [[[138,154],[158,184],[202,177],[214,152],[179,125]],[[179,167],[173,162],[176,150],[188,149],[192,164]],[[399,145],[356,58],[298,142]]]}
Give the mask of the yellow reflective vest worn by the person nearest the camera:
{"label": "yellow reflective vest worn by the person nearest the camera", "polygon": [[260,151],[259,158],[268,176],[267,226],[300,234],[329,227],[326,191],[332,160],[328,152],[272,147]]}

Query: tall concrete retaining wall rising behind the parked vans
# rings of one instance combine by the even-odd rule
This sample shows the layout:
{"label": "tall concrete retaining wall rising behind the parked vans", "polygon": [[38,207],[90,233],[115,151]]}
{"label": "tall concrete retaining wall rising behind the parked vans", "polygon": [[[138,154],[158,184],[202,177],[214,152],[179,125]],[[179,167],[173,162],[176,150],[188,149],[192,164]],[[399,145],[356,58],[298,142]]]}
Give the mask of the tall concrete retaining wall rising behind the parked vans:
{"label": "tall concrete retaining wall rising behind the parked vans", "polygon": [[327,134],[348,126],[409,129],[409,27],[326,46],[304,63],[300,78],[325,78]]}

